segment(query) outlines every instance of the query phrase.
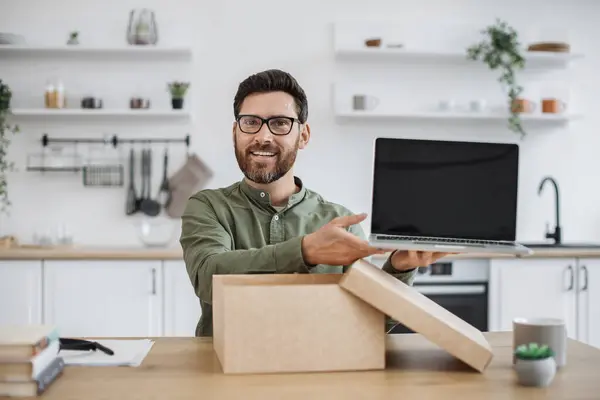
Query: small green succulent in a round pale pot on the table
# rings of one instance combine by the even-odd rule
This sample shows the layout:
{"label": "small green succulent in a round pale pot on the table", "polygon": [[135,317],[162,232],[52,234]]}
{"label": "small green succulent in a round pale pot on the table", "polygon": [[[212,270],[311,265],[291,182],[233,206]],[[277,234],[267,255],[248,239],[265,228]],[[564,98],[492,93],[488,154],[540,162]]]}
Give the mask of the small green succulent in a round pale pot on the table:
{"label": "small green succulent in a round pale pot on the table", "polygon": [[522,344],[515,350],[518,382],[524,386],[548,386],[556,375],[554,352],[547,345]]}

